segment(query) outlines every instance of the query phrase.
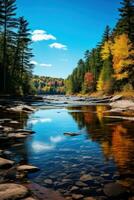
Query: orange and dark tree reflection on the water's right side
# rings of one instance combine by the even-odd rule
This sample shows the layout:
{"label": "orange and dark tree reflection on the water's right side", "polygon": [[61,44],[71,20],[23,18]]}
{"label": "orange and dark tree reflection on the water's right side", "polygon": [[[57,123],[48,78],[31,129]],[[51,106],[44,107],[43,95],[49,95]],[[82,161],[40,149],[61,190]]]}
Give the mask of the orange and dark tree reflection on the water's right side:
{"label": "orange and dark tree reflection on the water's right side", "polygon": [[[105,118],[106,106],[81,107],[70,112],[79,127],[86,128],[88,137],[100,143],[106,159],[114,158],[120,174],[131,178],[134,169],[134,140],[131,122],[115,122]],[[111,122],[111,123],[109,123]]]}

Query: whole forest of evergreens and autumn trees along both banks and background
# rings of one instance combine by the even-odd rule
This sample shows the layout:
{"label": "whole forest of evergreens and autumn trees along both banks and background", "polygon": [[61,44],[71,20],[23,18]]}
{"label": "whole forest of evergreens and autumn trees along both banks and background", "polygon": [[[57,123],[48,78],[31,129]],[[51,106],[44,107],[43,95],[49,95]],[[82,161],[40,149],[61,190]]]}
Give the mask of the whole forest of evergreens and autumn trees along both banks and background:
{"label": "whole forest of evergreens and autumn trees along both banks and background", "polygon": [[101,41],[84,53],[65,80],[65,88],[63,80],[53,83],[32,75],[31,43],[29,23],[23,16],[17,17],[16,0],[0,0],[1,94],[112,94],[134,89],[133,0],[121,2],[116,26],[106,26]]}

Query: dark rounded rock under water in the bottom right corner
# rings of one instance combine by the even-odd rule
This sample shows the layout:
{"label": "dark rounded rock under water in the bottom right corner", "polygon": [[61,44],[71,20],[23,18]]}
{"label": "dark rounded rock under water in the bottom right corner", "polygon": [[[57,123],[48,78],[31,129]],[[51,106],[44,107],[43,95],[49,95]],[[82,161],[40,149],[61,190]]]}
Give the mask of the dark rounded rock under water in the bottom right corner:
{"label": "dark rounded rock under water in the bottom right corner", "polygon": [[126,193],[126,189],[119,183],[108,183],[103,191],[108,197],[118,197]]}

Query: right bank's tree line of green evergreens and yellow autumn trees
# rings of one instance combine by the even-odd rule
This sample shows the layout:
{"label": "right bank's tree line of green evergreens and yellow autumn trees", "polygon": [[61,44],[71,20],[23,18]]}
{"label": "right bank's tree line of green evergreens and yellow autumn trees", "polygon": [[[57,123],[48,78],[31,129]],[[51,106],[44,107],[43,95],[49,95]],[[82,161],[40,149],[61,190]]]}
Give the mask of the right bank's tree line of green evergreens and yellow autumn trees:
{"label": "right bank's tree line of green evergreens and yellow autumn trees", "polygon": [[134,89],[134,1],[123,0],[119,14],[114,29],[106,26],[102,40],[65,80],[67,94]]}

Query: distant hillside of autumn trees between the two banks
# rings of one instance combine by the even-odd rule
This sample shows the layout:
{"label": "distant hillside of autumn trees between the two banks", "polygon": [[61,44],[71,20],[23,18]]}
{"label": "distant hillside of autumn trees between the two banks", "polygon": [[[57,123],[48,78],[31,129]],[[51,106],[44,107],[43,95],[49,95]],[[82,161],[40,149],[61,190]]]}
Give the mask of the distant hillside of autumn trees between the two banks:
{"label": "distant hillside of autumn trees between the two banks", "polygon": [[62,78],[34,76],[32,82],[37,94],[65,94]]}

